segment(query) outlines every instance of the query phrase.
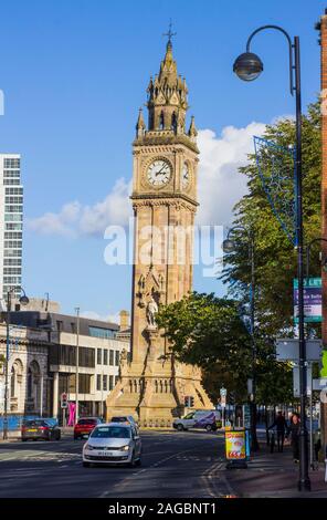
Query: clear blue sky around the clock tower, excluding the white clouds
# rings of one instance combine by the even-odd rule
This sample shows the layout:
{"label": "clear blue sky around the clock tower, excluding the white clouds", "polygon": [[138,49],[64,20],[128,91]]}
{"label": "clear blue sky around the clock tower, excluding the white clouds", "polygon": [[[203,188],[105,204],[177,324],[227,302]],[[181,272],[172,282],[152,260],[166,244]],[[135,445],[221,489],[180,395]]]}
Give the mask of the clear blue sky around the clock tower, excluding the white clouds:
{"label": "clear blue sky around the clock tower, excluding the white clouds", "polygon": [[[0,117],[0,149],[22,155],[25,218],[57,215],[74,201],[92,209],[113,191],[117,179],[128,184],[137,111],[164,56],[162,32],[170,17],[178,33],[173,54],[189,85],[190,113],[198,128],[208,131],[203,143],[213,139],[219,154],[226,127],[247,128],[249,134],[252,123],[294,112],[282,34],[262,33],[253,43],[265,65],[260,80],[245,84],[233,75],[232,63],[249,33],[276,23],[300,37],[305,107],[319,91],[314,24],[325,7],[318,0],[2,2],[0,89],[6,112]],[[208,179],[214,181],[212,176]],[[219,196],[228,197],[235,183],[224,177]],[[208,214],[208,223],[225,223],[229,217],[224,219],[223,211],[230,209],[222,209],[220,221]],[[99,315],[129,309],[130,268],[106,266],[105,246],[101,233],[73,237],[25,226],[27,292],[49,292],[67,313],[76,304]],[[199,268],[194,287],[221,291],[220,283],[204,279]]]}

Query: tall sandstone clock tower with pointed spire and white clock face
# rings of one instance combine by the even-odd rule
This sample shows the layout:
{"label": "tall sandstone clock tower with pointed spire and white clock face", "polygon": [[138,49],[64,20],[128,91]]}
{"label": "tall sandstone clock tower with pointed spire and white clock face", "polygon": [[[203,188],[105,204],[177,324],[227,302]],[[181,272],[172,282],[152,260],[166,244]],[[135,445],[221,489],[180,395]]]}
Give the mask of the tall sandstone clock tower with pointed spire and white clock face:
{"label": "tall sandstone clock tower with pointed spire and white clock face", "polygon": [[156,324],[160,304],[192,290],[193,222],[197,211],[198,147],[194,118],[186,131],[188,89],[177,73],[171,33],[159,74],[150,79],[148,125],[136,125],[134,185],[135,259],[130,358],[120,361],[120,379],[107,397],[107,418],[134,415],[143,426],[168,426],[194,408],[212,408],[201,371],[175,361]]}

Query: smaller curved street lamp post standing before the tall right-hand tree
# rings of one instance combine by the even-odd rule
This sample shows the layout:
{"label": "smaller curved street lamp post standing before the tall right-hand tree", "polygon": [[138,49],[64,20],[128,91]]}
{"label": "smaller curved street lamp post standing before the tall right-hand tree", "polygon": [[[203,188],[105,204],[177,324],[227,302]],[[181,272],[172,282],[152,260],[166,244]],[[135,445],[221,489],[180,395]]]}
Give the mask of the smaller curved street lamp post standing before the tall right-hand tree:
{"label": "smaller curved street lamp post standing before the tall right-hand tree", "polygon": [[236,229],[245,231],[247,233],[249,241],[249,259],[251,264],[251,282],[250,282],[250,334],[252,342],[252,392],[250,396],[250,409],[251,409],[251,449],[252,451],[259,450],[259,441],[256,437],[256,342],[255,342],[255,263],[254,263],[254,237],[251,230],[243,228],[242,226],[235,226],[228,232],[226,239],[223,241],[223,250],[225,252],[232,252],[235,249],[235,243],[231,240],[230,236]]}

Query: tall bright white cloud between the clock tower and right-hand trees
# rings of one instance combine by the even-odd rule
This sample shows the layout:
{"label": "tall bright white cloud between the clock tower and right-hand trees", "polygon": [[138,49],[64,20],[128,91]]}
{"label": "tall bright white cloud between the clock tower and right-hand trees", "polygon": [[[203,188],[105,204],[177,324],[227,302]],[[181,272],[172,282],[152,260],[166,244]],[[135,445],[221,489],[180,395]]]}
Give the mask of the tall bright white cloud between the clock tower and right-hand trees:
{"label": "tall bright white cloud between the clock tower and right-hand trees", "polygon": [[264,129],[263,123],[253,122],[244,128],[225,126],[219,137],[211,129],[199,131],[198,223],[231,222],[233,206],[246,193],[246,178],[239,167],[254,150],[253,136],[262,135]]}

